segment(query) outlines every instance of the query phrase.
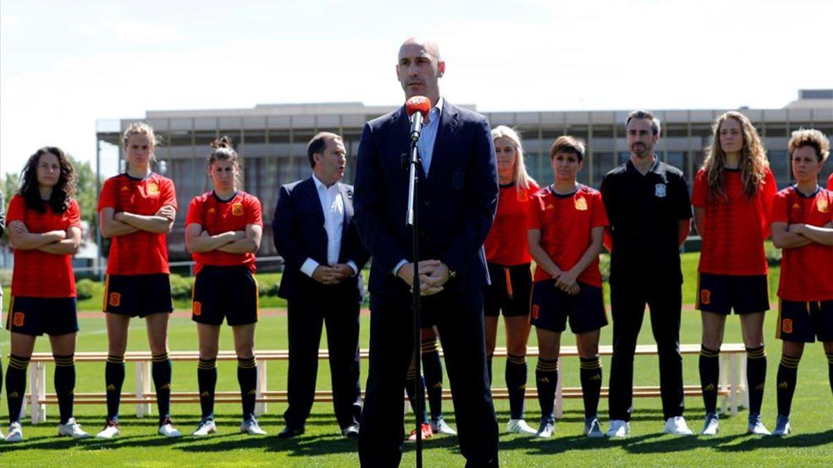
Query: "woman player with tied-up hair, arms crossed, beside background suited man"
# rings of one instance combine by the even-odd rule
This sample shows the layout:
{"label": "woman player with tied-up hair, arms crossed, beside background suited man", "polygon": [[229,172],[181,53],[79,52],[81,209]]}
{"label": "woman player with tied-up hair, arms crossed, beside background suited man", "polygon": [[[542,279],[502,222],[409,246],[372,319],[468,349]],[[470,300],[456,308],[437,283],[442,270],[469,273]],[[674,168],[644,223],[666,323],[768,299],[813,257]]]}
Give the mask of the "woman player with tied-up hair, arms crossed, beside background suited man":
{"label": "woman player with tied-up hair, arms crossed, beside background suited man", "polygon": [[214,190],[193,198],[185,221],[185,245],[197,264],[191,318],[197,322],[200,340],[197,381],[202,421],[192,436],[207,436],[217,431],[214,391],[223,318],[232,327],[237,351],[237,381],[243,402],[240,431],[266,434],[255,419],[257,281],[252,276],[254,254],[260,248],[263,234],[262,211],[257,197],[238,190],[239,176],[240,165],[232,139],[222,137],[212,142],[208,177]]}

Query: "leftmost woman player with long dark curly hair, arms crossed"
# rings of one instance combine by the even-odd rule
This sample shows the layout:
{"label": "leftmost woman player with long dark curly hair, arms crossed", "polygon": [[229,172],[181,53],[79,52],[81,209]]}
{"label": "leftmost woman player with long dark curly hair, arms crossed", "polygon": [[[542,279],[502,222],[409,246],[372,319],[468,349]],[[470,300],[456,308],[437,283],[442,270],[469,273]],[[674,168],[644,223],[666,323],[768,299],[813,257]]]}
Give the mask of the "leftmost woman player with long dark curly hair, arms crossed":
{"label": "leftmost woman player with long dark curly hair, arms crossed", "polygon": [[72,255],[81,242],[81,212],[72,199],[75,170],[60,148],[42,147],[29,157],[21,180],[7,212],[14,270],[6,323],[12,332],[6,372],[6,441],[23,439],[20,413],[26,369],[35,338],[44,333],[49,335],[55,358],[55,393],[61,412],[58,435],[82,439],[90,435],[72,417],[78,331]]}

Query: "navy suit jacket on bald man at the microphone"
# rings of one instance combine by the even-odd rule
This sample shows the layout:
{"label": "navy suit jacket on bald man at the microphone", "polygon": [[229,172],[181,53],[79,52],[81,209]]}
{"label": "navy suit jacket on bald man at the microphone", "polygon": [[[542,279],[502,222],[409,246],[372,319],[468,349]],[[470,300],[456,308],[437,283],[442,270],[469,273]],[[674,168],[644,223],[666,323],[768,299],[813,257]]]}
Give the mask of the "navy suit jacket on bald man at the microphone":
{"label": "navy suit jacket on bald man at the microphone", "polygon": [[[419,245],[422,260],[442,261],[456,277],[446,291],[478,290],[488,283],[483,242],[497,208],[495,147],[486,117],[445,102],[428,177],[420,170]],[[367,122],[356,167],[356,220],[373,256],[370,291],[407,292],[392,270],[413,261],[405,224],[411,123],[405,107]]]}

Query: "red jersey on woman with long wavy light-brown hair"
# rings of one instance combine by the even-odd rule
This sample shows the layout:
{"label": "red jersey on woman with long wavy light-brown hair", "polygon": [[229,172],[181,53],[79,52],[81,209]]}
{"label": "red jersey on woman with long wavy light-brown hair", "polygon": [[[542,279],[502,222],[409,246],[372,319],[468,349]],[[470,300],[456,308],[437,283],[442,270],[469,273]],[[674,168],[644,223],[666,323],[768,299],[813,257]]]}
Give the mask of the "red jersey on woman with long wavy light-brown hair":
{"label": "red jersey on woman with long wavy light-brown hair", "polygon": [[741,171],[724,169],[724,195],[711,195],[708,176],[701,169],[694,179],[691,203],[706,210],[703,245],[697,271],[713,275],[766,275],[764,241],[770,235],[776,178],[766,169],[754,196],[743,192]]}

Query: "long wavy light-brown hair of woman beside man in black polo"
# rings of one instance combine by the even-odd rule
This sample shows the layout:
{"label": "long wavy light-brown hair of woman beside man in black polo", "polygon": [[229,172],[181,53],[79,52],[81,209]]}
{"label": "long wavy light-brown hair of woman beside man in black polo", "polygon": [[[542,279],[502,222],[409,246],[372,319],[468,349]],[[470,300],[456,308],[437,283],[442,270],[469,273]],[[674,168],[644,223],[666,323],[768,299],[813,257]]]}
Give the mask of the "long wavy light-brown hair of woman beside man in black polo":
{"label": "long wavy light-brown hair of woman beside man in black polo", "polygon": [[726,197],[726,187],[723,182],[723,169],[726,168],[726,152],[721,147],[721,125],[728,119],[733,119],[741,124],[743,135],[743,147],[741,147],[741,160],[738,168],[741,169],[741,184],[743,192],[747,197],[754,197],[764,180],[766,168],[770,162],[766,159],[766,150],[758,131],[752,125],[749,118],[741,112],[729,111],[717,117],[715,124],[711,127],[711,145],[706,152],[706,160],[703,161],[703,170],[706,171],[706,185],[709,187],[710,196]]}

